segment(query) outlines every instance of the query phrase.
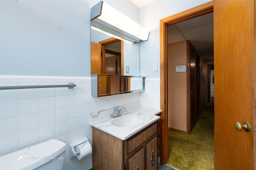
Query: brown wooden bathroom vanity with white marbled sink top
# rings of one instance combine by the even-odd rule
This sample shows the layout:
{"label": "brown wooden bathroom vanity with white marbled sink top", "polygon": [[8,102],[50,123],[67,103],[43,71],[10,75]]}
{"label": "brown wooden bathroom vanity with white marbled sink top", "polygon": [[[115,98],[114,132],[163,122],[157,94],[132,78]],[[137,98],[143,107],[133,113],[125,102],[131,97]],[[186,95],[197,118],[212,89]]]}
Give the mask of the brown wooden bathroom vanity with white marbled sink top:
{"label": "brown wooden bathroom vanity with white marbled sink top", "polygon": [[[92,168],[157,170],[160,117],[156,115],[161,112],[142,108],[135,113],[91,123]],[[122,123],[124,120],[130,125]]]}

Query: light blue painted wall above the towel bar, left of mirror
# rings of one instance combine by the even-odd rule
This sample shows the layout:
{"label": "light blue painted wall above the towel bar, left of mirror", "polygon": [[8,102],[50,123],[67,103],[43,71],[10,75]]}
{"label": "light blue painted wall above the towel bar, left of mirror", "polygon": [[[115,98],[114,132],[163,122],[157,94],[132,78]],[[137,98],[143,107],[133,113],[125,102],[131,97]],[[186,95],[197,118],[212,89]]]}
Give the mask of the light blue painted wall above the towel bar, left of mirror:
{"label": "light blue painted wall above the towel bar, left of mirror", "polygon": [[[100,0],[1,0],[1,75],[90,77],[90,7]],[[138,22],[131,1],[106,0]]]}

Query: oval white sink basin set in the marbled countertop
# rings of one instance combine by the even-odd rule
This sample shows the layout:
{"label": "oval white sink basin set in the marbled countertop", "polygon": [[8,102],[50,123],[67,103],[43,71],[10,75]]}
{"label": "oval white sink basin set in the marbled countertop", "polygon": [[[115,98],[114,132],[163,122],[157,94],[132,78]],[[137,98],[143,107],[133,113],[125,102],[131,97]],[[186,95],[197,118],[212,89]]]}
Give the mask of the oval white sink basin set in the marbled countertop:
{"label": "oval white sink basin set in the marbled countertop", "polygon": [[138,115],[123,115],[117,118],[114,118],[111,122],[111,125],[116,127],[129,127],[136,125],[140,122],[141,117]]}

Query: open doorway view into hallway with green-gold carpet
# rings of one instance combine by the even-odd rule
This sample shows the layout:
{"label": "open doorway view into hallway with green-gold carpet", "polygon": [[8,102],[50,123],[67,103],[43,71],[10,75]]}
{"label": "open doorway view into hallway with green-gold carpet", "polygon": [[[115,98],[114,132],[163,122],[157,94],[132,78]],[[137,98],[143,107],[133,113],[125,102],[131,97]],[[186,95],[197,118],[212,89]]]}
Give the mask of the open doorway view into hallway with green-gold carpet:
{"label": "open doorway view into hallway with green-gold carpet", "polygon": [[[213,59],[213,13],[168,26],[168,165],[175,168],[214,165],[214,105],[207,105]],[[179,64],[186,71],[177,71]]]}

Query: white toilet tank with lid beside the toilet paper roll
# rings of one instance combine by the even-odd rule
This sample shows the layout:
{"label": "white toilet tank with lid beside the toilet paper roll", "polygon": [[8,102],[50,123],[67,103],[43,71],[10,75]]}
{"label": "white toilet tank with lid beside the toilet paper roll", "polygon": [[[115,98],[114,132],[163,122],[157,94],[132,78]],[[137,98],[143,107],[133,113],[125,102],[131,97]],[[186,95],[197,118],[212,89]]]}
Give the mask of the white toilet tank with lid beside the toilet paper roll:
{"label": "white toilet tank with lid beside the toilet paper roll", "polygon": [[52,139],[0,157],[0,170],[62,170],[66,144]]}

